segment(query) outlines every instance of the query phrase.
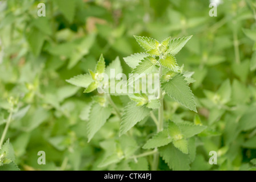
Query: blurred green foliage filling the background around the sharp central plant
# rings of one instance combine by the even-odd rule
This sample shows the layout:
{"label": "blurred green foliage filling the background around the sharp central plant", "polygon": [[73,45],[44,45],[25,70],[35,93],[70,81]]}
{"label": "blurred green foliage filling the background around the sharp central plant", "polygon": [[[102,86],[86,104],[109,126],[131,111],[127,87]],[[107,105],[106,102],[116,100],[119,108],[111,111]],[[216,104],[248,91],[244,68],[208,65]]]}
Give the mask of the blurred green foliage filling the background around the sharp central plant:
{"label": "blurred green foliage filling the background around the sharp central plant", "polygon": [[[41,2],[46,5],[45,17],[37,16]],[[127,143],[132,155],[141,154],[145,140],[155,132],[153,121],[139,123],[132,135],[119,138],[119,120],[112,115],[87,143],[88,107],[94,93],[85,94],[65,80],[93,70],[101,53],[107,65],[119,56],[123,72],[130,73],[123,57],[143,51],[133,35],[157,40],[193,35],[177,60],[194,72],[191,89],[198,114],[166,97],[165,118],[207,129],[191,139],[194,154],[179,156],[183,162],[178,169],[255,169],[256,3],[224,0],[216,17],[209,16],[209,4],[1,0],[0,134],[9,113],[13,117],[5,138],[10,143],[3,145],[0,162],[11,151],[14,154],[3,160],[10,169],[15,164],[22,170],[151,169],[151,156],[102,161],[126,151]],[[123,108],[128,99],[113,100]],[[38,151],[46,152],[46,165],[38,165]],[[217,165],[208,163],[209,151],[217,151]],[[161,160],[159,169],[169,167]]]}

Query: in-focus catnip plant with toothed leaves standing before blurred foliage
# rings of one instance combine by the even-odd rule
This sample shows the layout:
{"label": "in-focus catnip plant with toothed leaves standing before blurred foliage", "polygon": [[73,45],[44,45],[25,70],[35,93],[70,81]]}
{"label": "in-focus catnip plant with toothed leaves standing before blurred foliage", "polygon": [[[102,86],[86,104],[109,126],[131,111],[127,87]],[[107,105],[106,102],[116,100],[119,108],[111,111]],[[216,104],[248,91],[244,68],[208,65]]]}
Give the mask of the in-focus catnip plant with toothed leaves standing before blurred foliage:
{"label": "in-focus catnip plant with toothed leaves standing before blurred foliage", "polygon": [[[193,72],[184,71],[183,65],[179,66],[175,58],[192,36],[167,38],[161,43],[152,38],[134,37],[145,52],[124,58],[132,69],[132,75],[128,79],[126,76],[118,76],[122,73],[118,57],[106,67],[101,55],[94,71],[89,70],[85,75],[67,80],[70,84],[85,88],[84,93],[94,93],[91,97],[92,101],[85,110],[88,115],[86,129],[88,142],[97,135],[107,120],[116,117],[119,134],[112,135],[109,141],[100,144],[106,154],[99,162],[99,167],[111,169],[109,167],[111,164],[135,163],[143,166],[149,163],[151,170],[157,170],[161,157],[170,169],[186,169],[195,158],[194,136],[205,130],[206,126],[202,126],[197,117],[194,123],[173,121],[165,117],[165,113],[169,112],[165,108],[165,97],[170,97],[181,106],[197,112],[195,99],[189,87],[189,84],[195,81],[191,78]],[[147,88],[153,86],[156,88],[154,92],[149,93],[148,89],[143,89],[145,80],[143,83],[142,78],[145,78],[145,74],[147,74],[145,79]],[[137,86],[136,82],[139,83]],[[126,86],[130,85],[132,89],[129,89],[132,92],[126,92]],[[113,87],[115,89],[122,87],[125,92],[111,92]],[[125,107],[116,104],[113,100],[113,97],[123,98],[125,95],[129,97]],[[135,136],[133,128],[139,122],[141,125],[154,122],[153,133],[148,133],[141,139]]]}

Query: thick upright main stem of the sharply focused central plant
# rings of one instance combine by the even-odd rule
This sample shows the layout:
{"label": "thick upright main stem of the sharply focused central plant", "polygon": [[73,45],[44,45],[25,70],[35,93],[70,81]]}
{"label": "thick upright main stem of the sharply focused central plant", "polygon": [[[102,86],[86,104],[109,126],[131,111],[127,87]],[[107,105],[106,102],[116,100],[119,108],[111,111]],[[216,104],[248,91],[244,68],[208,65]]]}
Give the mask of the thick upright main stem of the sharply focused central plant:
{"label": "thick upright main stem of the sharply focused central plant", "polygon": [[[158,92],[158,98],[160,100],[161,106],[158,109],[158,127],[157,127],[157,133],[163,130],[163,90],[161,88],[161,81],[160,78],[162,76],[162,65],[159,68],[159,92]],[[152,170],[157,171],[158,168],[158,163],[159,163],[159,153],[154,154],[153,158],[153,164],[152,164]]]}

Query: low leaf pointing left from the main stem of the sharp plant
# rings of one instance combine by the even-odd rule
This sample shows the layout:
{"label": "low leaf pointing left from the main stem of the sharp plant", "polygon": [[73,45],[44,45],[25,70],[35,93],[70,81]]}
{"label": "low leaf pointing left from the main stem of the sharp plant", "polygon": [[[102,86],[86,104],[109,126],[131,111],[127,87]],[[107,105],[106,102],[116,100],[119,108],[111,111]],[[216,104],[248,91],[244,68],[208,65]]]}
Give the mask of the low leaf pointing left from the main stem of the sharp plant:
{"label": "low leaf pointing left from the main stem of the sharp plant", "polygon": [[168,130],[163,130],[157,134],[155,134],[151,139],[147,140],[142,148],[156,148],[162,147],[173,141],[173,138],[168,134]]}

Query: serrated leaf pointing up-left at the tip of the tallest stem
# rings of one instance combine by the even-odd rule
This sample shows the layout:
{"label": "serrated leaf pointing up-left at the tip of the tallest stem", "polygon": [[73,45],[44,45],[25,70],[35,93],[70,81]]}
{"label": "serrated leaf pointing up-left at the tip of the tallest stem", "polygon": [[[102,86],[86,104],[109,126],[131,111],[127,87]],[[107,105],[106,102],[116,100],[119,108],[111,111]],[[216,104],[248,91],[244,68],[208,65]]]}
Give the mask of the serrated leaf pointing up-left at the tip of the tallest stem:
{"label": "serrated leaf pointing up-left at the tip of the tallest stem", "polygon": [[137,40],[139,45],[145,49],[145,51],[150,51],[151,49],[157,49],[159,46],[159,42],[152,38],[147,37],[141,37],[141,36],[135,36],[134,38]]}

